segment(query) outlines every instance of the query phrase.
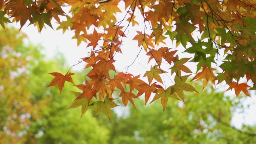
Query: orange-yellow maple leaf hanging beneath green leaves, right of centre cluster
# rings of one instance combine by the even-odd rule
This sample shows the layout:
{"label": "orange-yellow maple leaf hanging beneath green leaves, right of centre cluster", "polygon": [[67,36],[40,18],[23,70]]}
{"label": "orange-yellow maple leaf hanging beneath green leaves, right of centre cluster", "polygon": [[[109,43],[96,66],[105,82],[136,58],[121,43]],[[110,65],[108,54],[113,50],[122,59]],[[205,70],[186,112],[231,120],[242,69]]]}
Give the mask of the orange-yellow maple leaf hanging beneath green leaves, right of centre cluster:
{"label": "orange-yellow maple leaf hanging beneath green leaves, right of centre cluster", "polygon": [[198,80],[202,79],[203,80],[203,88],[202,89],[205,88],[205,86],[207,85],[207,83],[209,81],[211,81],[215,85],[214,81],[216,80],[215,79],[216,76],[214,76],[213,70],[215,70],[215,69],[211,68],[211,70],[209,70],[209,68],[207,68],[207,66],[204,65],[202,71],[200,73],[196,74],[192,80],[198,81]]}

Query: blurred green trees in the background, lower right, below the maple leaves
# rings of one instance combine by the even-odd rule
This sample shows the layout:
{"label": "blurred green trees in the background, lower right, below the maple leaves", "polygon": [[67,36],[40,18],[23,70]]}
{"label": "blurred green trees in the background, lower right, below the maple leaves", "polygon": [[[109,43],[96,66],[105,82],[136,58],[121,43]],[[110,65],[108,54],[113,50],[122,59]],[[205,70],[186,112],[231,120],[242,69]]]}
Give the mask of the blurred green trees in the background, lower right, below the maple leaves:
{"label": "blurred green trees in the background, lower right, below the maple leaves", "polygon": [[207,90],[186,96],[186,104],[173,100],[165,111],[161,111],[159,102],[145,107],[143,100],[137,101],[137,111],[130,105],[128,113],[106,123],[111,132],[109,144],[256,143],[256,127],[243,125],[237,129],[231,125],[237,108],[244,109],[241,99]]}

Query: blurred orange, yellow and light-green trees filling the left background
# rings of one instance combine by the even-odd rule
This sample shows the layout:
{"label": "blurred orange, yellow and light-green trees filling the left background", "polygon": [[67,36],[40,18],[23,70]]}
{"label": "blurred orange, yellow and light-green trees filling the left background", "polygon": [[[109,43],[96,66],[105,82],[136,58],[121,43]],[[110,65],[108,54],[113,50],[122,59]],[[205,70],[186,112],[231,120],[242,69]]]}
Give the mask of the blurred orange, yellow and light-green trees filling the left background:
{"label": "blurred orange, yellow and light-green trees filling the left background", "polygon": [[47,73],[67,66],[63,56],[45,61],[42,48],[25,39],[14,28],[0,30],[0,144],[105,144],[109,131],[90,113],[80,119],[80,111],[65,110],[72,93],[63,98],[46,88]]}

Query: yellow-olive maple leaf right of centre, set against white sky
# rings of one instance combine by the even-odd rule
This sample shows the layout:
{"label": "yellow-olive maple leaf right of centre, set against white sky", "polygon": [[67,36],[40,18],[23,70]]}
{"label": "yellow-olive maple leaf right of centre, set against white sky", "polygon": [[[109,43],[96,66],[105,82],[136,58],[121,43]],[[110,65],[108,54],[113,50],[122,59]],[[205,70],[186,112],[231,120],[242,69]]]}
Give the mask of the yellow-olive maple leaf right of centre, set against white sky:
{"label": "yellow-olive maple leaf right of centre, set against white sky", "polygon": [[149,80],[149,83],[152,82],[153,79],[156,81],[163,83],[162,78],[159,76],[159,74],[167,73],[164,70],[161,70],[160,68],[157,68],[158,65],[155,65],[150,68],[150,71],[146,71],[143,77],[147,76],[147,79]]}

